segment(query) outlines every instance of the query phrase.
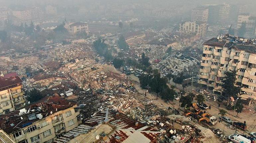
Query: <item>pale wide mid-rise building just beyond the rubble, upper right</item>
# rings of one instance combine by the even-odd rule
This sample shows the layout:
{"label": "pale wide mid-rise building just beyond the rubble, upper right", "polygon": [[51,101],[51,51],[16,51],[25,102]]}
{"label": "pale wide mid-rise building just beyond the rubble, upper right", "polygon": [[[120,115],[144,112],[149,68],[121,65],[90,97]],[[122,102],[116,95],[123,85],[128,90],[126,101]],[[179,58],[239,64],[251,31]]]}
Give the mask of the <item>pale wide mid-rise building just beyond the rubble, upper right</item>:
{"label": "pale wide mid-rise building just beyond the rubble, upper right", "polygon": [[204,37],[206,34],[206,23],[199,21],[187,21],[180,24],[180,31],[193,32],[200,35],[200,37]]}

